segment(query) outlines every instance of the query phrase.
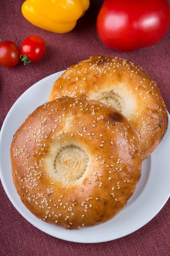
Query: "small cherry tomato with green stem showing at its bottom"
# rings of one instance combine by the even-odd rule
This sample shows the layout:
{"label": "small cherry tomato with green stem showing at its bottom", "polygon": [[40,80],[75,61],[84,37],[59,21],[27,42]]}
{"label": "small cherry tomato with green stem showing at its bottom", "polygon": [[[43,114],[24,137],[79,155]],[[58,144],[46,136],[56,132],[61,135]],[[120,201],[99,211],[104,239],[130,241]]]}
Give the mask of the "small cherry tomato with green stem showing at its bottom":
{"label": "small cherry tomato with green stem showing at its bottom", "polygon": [[[22,55],[26,55],[27,58],[24,59],[24,56],[21,57],[24,64],[31,62],[40,61],[46,50],[45,41],[38,35],[31,35],[26,38],[21,44],[20,52]],[[29,60],[28,60],[29,58]]]}

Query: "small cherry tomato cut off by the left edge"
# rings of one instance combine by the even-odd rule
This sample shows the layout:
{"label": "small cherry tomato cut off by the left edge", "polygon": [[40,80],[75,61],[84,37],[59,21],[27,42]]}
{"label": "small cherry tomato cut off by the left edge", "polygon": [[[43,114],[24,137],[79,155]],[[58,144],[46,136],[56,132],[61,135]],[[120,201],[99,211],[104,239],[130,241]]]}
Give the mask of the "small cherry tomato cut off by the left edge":
{"label": "small cherry tomato cut off by the left edge", "polygon": [[14,67],[20,61],[20,50],[11,41],[0,44],[0,64],[4,67]]}

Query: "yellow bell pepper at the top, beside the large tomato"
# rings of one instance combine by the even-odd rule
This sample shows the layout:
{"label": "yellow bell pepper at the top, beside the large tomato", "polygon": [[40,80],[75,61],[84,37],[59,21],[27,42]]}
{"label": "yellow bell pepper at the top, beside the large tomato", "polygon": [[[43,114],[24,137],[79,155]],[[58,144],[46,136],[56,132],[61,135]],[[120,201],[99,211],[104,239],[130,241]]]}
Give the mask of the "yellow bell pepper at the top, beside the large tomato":
{"label": "yellow bell pepper at the top, beside the large tomato", "polygon": [[74,29],[89,5],[89,0],[26,0],[22,13],[35,26],[55,33],[66,33]]}

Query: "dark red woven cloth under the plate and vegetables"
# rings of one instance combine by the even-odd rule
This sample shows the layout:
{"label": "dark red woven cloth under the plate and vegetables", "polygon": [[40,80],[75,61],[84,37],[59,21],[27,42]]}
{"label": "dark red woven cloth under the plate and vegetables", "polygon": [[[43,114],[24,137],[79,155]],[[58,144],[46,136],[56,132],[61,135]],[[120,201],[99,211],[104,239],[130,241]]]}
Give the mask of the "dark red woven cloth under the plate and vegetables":
{"label": "dark red woven cloth under the plate and vegetables", "polygon": [[[20,63],[10,69],[0,66],[0,127],[11,106],[32,84],[98,54],[115,55],[141,65],[157,81],[170,111],[170,30],[153,47],[121,53],[106,48],[96,34],[102,0],[91,0],[90,9],[76,28],[60,35],[29,23],[21,13],[23,2],[0,0],[0,38],[20,46],[29,35],[39,35],[44,38],[47,51],[36,64]],[[56,239],[32,226],[13,207],[0,183],[0,255],[170,256],[170,200],[152,221],[129,236],[100,244],[78,244]]]}

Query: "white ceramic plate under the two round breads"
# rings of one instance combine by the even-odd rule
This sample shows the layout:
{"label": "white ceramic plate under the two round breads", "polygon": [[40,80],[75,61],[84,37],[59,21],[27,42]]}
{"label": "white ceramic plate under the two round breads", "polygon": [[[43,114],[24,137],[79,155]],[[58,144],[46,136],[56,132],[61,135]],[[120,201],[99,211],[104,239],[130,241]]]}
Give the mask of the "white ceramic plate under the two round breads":
{"label": "white ceramic plate under the two round breads", "polygon": [[81,243],[118,239],[147,224],[161,210],[170,196],[170,126],[164,140],[152,156],[144,160],[142,177],[134,195],[128,201],[125,209],[111,221],[81,230],[65,230],[40,221],[20,201],[12,182],[10,145],[17,128],[28,114],[47,101],[52,84],[62,73],[63,71],[48,76],[30,87],[14,103],[6,116],[0,133],[0,177],[3,187],[18,212],[35,227],[51,236]]}

